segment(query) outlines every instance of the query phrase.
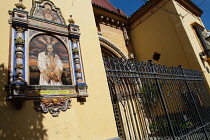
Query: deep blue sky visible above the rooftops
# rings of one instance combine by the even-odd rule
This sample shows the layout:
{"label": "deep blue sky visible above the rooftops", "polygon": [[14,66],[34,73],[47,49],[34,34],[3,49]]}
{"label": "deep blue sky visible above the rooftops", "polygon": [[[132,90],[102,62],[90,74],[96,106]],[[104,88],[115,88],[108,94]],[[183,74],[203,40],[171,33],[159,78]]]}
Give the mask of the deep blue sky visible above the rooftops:
{"label": "deep blue sky visible above the rooftops", "polygon": [[[133,14],[147,0],[109,0],[116,8],[121,9],[128,16]],[[203,10],[201,19],[207,30],[210,31],[210,0],[192,0],[200,9]]]}

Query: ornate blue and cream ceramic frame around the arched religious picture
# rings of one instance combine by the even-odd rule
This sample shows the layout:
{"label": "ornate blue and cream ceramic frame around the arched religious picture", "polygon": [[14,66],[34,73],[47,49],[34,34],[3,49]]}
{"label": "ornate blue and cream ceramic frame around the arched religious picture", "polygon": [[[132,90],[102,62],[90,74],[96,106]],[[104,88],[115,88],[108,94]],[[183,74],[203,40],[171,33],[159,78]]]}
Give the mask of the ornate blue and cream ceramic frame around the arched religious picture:
{"label": "ornate blue and cream ceramic frame around the arched religious picture", "polygon": [[[69,25],[59,8],[50,0],[33,1],[30,15],[23,10],[25,6],[20,0],[17,8],[9,11],[11,24],[11,46],[10,46],[10,84],[8,89],[8,100],[23,101],[35,100],[35,109],[44,113],[50,112],[58,116],[60,111],[70,107],[71,98],[77,98],[85,102],[88,96],[87,84],[85,82],[81,51],[79,26],[69,19]],[[43,8],[50,9],[51,13],[36,17]],[[45,11],[47,11],[44,9]],[[49,10],[48,10],[49,12]],[[70,16],[71,17],[71,16]],[[53,18],[55,21],[53,21]],[[50,19],[50,20],[49,20]],[[65,44],[69,55],[72,85],[29,85],[29,43],[37,35],[46,34],[54,36]]]}

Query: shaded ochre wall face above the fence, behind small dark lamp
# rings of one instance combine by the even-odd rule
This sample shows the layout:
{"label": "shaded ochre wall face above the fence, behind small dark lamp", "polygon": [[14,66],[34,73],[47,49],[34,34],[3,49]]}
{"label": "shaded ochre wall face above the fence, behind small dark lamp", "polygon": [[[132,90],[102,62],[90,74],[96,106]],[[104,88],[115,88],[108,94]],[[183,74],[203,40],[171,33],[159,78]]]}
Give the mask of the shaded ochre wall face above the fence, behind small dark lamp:
{"label": "shaded ochre wall face above the fence, behind small dark lamp", "polygon": [[[163,4],[164,2],[161,2],[158,6]],[[174,15],[174,18],[177,18],[177,15]],[[157,63],[190,67],[168,12],[154,7],[131,25],[131,37],[138,60],[152,59],[154,52],[158,52],[161,56]]]}

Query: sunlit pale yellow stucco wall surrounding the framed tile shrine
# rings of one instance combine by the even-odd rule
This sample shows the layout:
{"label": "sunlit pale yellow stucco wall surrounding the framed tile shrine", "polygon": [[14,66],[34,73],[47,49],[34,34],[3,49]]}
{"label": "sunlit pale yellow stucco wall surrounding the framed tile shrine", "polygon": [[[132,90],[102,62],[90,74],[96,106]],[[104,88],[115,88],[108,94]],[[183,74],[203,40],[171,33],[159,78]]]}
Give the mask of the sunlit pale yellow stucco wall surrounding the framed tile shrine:
{"label": "sunlit pale yellow stucco wall surrounding the framed tile shrine", "polygon": [[[0,6],[0,139],[5,140],[104,140],[117,136],[111,98],[101,58],[91,0],[52,0],[61,8],[67,20],[73,15],[80,26],[80,46],[88,84],[89,97],[84,105],[72,99],[72,107],[53,118],[33,109],[33,100],[26,101],[21,110],[14,109],[6,101],[4,86],[7,85],[9,36],[8,10],[15,8],[18,0],[5,1]],[[30,11],[32,0],[24,1]],[[87,28],[88,27],[88,28]]]}

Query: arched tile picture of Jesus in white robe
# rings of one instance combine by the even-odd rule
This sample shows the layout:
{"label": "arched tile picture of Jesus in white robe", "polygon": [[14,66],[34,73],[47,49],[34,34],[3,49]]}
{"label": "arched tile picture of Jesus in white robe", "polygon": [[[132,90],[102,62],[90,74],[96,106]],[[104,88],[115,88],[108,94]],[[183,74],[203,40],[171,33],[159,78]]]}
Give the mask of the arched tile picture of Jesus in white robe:
{"label": "arched tile picture of Jesus in white robe", "polygon": [[50,35],[38,35],[29,45],[30,85],[71,85],[68,51]]}

